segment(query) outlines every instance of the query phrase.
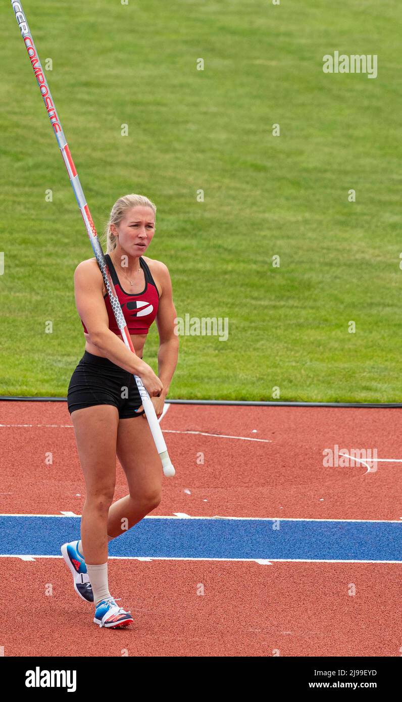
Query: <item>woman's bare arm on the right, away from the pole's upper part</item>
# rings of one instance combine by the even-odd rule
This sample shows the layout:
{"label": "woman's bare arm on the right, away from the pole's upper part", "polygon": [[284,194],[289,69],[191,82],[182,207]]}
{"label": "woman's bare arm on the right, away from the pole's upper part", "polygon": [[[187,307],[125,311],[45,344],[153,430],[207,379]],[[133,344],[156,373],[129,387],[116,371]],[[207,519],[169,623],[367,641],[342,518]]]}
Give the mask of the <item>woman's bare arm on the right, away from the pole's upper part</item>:
{"label": "woman's bare arm on the right, away from the pole's upper part", "polygon": [[163,401],[168,395],[179,354],[179,338],[175,333],[177,313],[173,303],[172,282],[168,267],[161,261],[159,261],[158,272],[162,287],[158,313],[156,314],[156,326],[159,333],[158,376],[163,383],[163,391],[160,398],[152,397],[156,416],[160,416],[163,411]]}

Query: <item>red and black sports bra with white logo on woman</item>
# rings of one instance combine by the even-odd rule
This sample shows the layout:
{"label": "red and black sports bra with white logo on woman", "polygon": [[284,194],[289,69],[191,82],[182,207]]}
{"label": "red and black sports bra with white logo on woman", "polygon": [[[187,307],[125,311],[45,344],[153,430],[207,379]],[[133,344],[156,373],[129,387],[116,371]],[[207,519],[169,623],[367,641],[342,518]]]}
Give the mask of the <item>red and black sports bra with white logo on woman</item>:
{"label": "red and black sports bra with white logo on woman", "polygon": [[[147,334],[149,327],[151,326],[152,322],[154,322],[159,306],[159,291],[152,277],[152,273],[149,270],[149,265],[145,262],[142,256],[140,256],[140,266],[142,267],[145,275],[145,289],[142,291],[142,293],[133,295],[126,293],[126,291],[124,291],[121,287],[109,253],[105,254],[105,259],[116,289],[116,295],[119,298],[119,303],[121,305],[121,309],[123,310],[124,318],[127,322],[128,333]],[[105,300],[107,315],[109,317],[109,329],[115,334],[120,334],[120,330],[117,326],[112,305],[110,304],[107,293],[103,296],[103,298]],[[81,324],[83,326],[83,331],[88,333],[82,319]]]}

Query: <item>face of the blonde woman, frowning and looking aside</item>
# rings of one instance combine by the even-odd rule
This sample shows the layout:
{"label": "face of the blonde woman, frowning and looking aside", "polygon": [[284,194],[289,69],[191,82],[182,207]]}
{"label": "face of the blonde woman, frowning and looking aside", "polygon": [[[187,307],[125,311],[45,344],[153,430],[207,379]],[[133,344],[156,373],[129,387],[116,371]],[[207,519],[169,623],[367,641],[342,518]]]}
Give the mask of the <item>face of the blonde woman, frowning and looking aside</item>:
{"label": "face of the blonde woman, frowning and looking aside", "polygon": [[128,256],[142,256],[154,237],[154,212],[150,207],[142,205],[132,207],[114,233],[119,234],[121,249]]}

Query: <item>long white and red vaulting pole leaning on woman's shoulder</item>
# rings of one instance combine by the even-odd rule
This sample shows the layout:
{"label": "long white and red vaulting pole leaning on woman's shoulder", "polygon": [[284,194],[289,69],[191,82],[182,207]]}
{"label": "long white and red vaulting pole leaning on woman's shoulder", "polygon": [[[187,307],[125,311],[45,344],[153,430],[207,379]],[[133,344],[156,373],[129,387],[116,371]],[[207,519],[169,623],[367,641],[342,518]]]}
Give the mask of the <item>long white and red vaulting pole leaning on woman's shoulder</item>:
{"label": "long white and red vaulting pole leaning on woman's shoulder", "polygon": [[[46,81],[41,62],[39,60],[38,52],[32,39],[32,34],[30,32],[27,19],[25,18],[25,13],[22,10],[22,5],[20,2],[15,2],[11,0],[11,6],[15,13],[15,19],[18,22],[18,27],[21,30],[21,36],[24,40],[25,48],[27,49],[29,60],[31,62],[32,68],[34,69],[34,74],[36,81],[38,82],[39,90],[45,103],[46,111],[48,117],[51,120],[51,125],[53,126],[53,131],[55,133],[55,138],[58,141],[58,145],[67,168],[67,173],[69,175],[70,183],[72,184],[72,189],[74,190],[74,195],[76,197],[79,210],[81,212],[83,223],[85,224],[86,231],[91,241],[91,246],[95,258],[98,262],[100,272],[102,273],[103,282],[105,283],[105,288],[109,296],[110,304],[112,305],[112,310],[114,312],[114,317],[116,317],[117,326],[121,332],[121,337],[126,347],[130,349],[131,352],[135,353],[133,342],[131,341],[130,334],[128,333],[128,326],[126,324],[126,319],[124,319],[123,311],[119,303],[119,299],[116,295],[116,289],[112,282],[112,277],[109,273],[107,263],[105,260],[104,253],[102,251],[102,246],[100,246],[100,241],[98,239],[98,234],[91,217],[91,212],[89,211],[88,204],[83,194],[81,183],[79,182],[79,177],[76,172],[76,167],[74,166],[74,161],[72,160],[72,155],[70,154],[69,147],[67,145],[67,140],[65,138],[64,132],[62,131],[62,126],[60,124],[60,119],[55,108],[55,103],[51,96],[51,91],[49,90],[48,82]],[[161,458],[161,463],[163,465],[163,472],[167,476],[175,475],[175,469],[170,462],[168,449],[166,448],[165,440],[163,439],[161,427],[156,418],[156,412],[154,405],[148,395],[147,388],[145,388],[144,383],[142,383],[141,378],[134,376],[135,382],[138,385],[138,391],[142,399],[142,406],[145,409],[145,415],[149,423],[149,428],[152,432],[152,437],[154,437],[154,442],[156,450]]]}

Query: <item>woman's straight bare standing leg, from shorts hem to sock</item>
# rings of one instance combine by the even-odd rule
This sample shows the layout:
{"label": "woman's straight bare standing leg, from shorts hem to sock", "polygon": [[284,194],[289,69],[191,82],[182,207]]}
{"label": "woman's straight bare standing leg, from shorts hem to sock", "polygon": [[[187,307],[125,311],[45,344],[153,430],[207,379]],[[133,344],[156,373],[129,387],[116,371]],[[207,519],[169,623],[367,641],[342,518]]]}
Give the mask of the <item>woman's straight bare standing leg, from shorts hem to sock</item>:
{"label": "woman's straight bare standing leg, from shorts hem to sock", "polygon": [[107,517],[116,484],[116,439],[119,411],[101,404],[71,413],[79,460],[86,482],[81,517],[81,543],[85,562],[107,562]]}

